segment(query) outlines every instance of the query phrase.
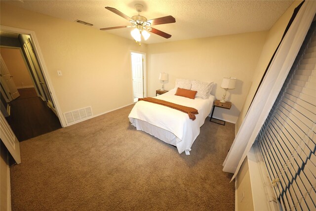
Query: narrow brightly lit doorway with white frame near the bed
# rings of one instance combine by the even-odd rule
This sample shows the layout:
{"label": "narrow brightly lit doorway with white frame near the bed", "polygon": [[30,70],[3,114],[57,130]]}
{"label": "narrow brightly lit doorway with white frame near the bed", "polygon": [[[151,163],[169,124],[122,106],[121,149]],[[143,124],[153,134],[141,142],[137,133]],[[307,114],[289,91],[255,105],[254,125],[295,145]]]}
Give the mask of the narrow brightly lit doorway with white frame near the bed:
{"label": "narrow brightly lit doorway with white frame near the bed", "polygon": [[146,93],[146,54],[142,52],[131,52],[131,70],[133,83],[133,101],[143,98]]}

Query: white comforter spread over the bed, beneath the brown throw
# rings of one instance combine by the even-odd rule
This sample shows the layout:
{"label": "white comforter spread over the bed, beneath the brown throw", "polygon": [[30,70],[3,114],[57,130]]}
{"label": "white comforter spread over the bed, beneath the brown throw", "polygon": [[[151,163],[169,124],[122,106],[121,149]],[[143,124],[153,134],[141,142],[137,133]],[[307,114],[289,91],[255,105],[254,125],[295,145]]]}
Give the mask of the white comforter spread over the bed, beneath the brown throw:
{"label": "white comforter spread over the bed, beneath the brown throw", "polygon": [[174,95],[175,92],[176,88],[155,98],[196,108],[198,111],[196,120],[189,119],[187,113],[146,101],[138,101],[128,118],[134,126],[135,119],[138,119],[172,132],[177,137],[178,152],[182,153],[185,150],[191,150],[191,146],[200,132],[200,127],[211,112],[214,96],[210,95],[208,99],[190,99]]}

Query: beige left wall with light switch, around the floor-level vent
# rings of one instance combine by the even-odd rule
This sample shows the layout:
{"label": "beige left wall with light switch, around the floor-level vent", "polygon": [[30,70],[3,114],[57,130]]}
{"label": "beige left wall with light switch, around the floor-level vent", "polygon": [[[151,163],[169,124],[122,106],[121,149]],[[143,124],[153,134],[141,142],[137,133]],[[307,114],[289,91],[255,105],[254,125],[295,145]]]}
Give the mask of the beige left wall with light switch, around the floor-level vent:
{"label": "beige left wall with light switch, around the floor-level vent", "polygon": [[98,115],[133,103],[130,50],[146,52],[146,44],[0,3],[1,25],[35,32],[62,113],[91,106]]}

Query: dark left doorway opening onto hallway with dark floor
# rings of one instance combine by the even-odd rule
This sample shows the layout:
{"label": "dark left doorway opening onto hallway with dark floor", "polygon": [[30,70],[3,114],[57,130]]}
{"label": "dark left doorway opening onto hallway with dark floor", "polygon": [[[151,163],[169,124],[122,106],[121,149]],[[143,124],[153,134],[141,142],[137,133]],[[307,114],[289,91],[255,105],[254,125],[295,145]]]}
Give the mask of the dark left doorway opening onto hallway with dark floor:
{"label": "dark left doorway opening onto hallway with dark floor", "polygon": [[[18,140],[61,128],[31,37],[1,31],[0,45],[1,112]],[[7,76],[3,78],[2,73]],[[16,90],[14,96],[12,90]]]}

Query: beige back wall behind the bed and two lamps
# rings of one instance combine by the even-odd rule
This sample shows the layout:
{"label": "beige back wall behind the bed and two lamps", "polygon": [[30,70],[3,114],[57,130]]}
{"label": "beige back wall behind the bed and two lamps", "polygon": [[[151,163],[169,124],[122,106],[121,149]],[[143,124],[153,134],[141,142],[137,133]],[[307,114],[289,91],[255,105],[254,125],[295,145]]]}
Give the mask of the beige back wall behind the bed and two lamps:
{"label": "beige back wall behind the bed and two lamps", "polygon": [[149,44],[148,95],[161,87],[159,73],[169,74],[165,89],[174,87],[176,78],[215,82],[212,94],[222,99],[224,77],[237,78],[236,89],[227,92],[231,110],[216,108],[214,117],[235,123],[251,85],[254,69],[267,32]]}

